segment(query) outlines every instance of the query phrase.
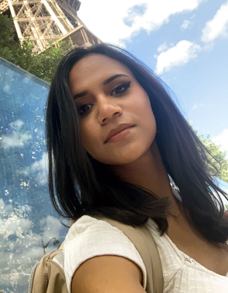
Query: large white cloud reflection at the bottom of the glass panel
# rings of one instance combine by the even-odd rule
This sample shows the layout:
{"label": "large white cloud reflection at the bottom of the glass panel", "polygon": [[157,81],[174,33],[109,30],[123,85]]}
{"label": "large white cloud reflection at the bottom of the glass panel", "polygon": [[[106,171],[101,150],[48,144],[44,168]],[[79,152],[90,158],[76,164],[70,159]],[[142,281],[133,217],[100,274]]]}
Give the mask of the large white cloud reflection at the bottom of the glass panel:
{"label": "large white cloud reflection at the bottom of the glass panel", "polygon": [[[32,267],[44,254],[42,240],[44,244],[53,237],[63,241],[58,218],[47,215],[37,223],[36,218],[31,220],[32,212],[28,205],[13,207],[0,198],[0,246],[5,248],[0,250],[0,286],[13,289],[7,292],[22,292],[28,286]],[[39,234],[34,233],[34,224],[40,226]],[[46,253],[57,249],[53,244],[50,241]]]}

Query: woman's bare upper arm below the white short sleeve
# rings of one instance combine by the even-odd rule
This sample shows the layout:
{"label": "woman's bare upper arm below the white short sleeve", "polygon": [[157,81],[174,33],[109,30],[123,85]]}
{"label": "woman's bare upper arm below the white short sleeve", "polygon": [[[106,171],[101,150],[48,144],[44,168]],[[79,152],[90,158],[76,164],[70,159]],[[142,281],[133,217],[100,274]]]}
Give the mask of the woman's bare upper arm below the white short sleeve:
{"label": "woman's bare upper arm below the white short sleeve", "polygon": [[141,268],[118,255],[89,258],[75,271],[72,293],[145,293]]}

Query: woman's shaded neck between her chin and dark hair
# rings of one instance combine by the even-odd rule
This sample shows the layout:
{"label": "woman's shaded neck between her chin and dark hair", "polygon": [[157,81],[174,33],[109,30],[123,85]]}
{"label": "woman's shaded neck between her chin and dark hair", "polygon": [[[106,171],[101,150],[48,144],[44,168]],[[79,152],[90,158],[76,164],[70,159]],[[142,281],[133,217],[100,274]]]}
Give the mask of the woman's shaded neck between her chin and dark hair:
{"label": "woman's shaded neck between her chin and dark hair", "polygon": [[121,180],[146,188],[158,198],[169,197],[171,205],[166,209],[167,213],[180,210],[181,205],[178,206],[173,196],[156,140],[141,157],[131,163],[114,165],[112,170]]}

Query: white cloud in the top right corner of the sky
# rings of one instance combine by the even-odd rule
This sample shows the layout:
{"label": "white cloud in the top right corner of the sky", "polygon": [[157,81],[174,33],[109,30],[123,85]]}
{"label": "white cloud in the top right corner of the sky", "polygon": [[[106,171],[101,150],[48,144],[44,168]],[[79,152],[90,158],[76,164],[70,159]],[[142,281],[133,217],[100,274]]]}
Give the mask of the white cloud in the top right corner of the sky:
{"label": "white cloud in the top right corner of the sky", "polygon": [[220,6],[215,16],[206,22],[202,30],[203,42],[211,42],[220,36],[228,36],[228,1]]}

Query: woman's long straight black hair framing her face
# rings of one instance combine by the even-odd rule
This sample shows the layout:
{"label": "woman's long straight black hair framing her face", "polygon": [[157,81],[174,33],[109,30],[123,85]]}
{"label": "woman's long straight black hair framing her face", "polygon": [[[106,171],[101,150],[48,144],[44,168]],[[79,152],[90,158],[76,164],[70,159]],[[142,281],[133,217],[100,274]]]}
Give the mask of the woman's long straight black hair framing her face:
{"label": "woman's long straight black hair framing her face", "polygon": [[72,66],[90,53],[116,59],[132,71],[149,96],[158,130],[155,139],[188,221],[211,243],[227,241],[228,222],[223,219],[221,195],[227,200],[228,196],[217,186],[214,175],[218,170],[206,156],[212,154],[174,103],[168,86],[134,55],[107,43],[67,52],[50,86],[45,113],[48,184],[58,214],[74,220],[102,214],[131,226],[151,218],[161,235],[168,229],[164,213],[168,197],[158,199],[139,185],[121,181],[82,146],[79,114],[68,78]]}

